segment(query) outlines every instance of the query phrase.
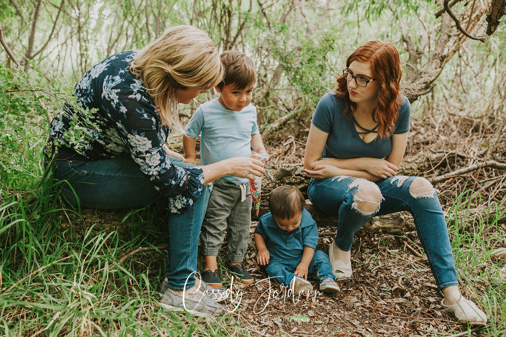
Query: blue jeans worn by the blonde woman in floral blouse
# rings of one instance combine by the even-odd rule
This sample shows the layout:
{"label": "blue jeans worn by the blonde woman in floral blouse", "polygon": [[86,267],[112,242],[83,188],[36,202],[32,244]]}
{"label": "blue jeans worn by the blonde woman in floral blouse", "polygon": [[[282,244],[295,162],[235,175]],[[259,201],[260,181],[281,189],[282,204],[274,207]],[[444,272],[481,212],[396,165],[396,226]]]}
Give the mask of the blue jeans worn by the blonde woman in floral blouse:
{"label": "blue jeans worn by the blonde woman in floral blouse", "polygon": [[[172,164],[180,167],[194,166],[182,163],[181,159],[169,158]],[[165,205],[166,199],[162,198],[131,158],[95,161],[65,159],[57,160],[56,165],[57,178],[68,181],[60,183],[61,195],[73,206],[78,202],[72,189],[79,198],[79,204],[88,208],[140,207],[154,203],[159,203],[163,208]],[[166,277],[168,287],[174,291],[183,291],[185,282],[186,289],[195,284],[193,273],[197,270],[198,237],[208,200],[209,189],[205,185],[201,197],[189,210],[167,215],[169,248]]]}

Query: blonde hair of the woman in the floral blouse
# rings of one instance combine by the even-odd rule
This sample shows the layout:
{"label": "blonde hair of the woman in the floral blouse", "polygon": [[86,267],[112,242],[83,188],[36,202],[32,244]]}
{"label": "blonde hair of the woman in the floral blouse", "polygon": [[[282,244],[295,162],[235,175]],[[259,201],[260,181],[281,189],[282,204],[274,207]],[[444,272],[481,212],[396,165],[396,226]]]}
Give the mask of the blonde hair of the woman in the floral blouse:
{"label": "blonde hair of the woman in the floral blouse", "polygon": [[139,51],[130,72],[141,78],[159,107],[162,124],[179,125],[178,90],[205,90],[221,82],[224,70],[213,41],[198,28],[168,28]]}

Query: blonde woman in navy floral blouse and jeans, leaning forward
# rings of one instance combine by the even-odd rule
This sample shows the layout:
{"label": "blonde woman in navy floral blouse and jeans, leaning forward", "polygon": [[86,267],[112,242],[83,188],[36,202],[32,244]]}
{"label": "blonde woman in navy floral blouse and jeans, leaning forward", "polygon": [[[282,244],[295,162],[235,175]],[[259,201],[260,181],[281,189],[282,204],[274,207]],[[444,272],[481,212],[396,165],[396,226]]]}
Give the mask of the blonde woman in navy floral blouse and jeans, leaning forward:
{"label": "blonde woman in navy floral blouse and jeans, leaning forward", "polygon": [[67,106],[49,130],[60,147],[56,174],[68,181],[61,184],[68,204],[111,209],[159,203],[170,210],[161,304],[192,313],[224,309],[217,302],[221,292],[194,276],[206,184],[227,174],[254,179],[265,173],[250,158],[182,163],[183,156],[165,146],[171,130],[181,130],[177,104],[190,103],[222,78],[212,40],[191,26],[172,27],[142,50],[113,55],[87,71],[74,95],[81,107],[95,109],[92,118]]}

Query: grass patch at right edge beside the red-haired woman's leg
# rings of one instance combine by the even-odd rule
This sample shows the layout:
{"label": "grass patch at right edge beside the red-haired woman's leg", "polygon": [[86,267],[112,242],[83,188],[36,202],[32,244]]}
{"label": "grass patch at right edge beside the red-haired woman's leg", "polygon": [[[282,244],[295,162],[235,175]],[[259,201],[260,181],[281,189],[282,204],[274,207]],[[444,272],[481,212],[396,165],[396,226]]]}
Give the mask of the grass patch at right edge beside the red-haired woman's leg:
{"label": "grass patch at right edge beside the red-haired woman's leg", "polygon": [[484,213],[474,212],[473,206],[481,203],[480,194],[472,190],[456,196],[448,231],[461,291],[485,308],[489,324],[481,332],[499,336],[506,333],[506,264],[490,252],[506,247],[506,226],[498,223],[506,210],[498,212],[501,207],[491,205]]}

